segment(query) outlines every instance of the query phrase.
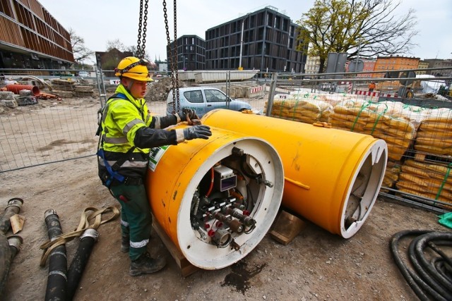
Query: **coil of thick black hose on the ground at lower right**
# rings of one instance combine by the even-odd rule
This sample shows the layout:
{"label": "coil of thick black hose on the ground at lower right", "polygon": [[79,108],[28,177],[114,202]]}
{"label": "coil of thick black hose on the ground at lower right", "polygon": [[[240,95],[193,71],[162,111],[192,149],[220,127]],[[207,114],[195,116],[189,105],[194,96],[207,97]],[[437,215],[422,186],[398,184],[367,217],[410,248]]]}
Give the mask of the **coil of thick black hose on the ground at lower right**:
{"label": "coil of thick black hose on the ground at lower right", "polygon": [[[408,248],[408,259],[414,270],[403,262],[398,252],[400,240],[407,236],[416,236]],[[452,232],[406,230],[391,238],[394,260],[420,300],[452,300],[452,259],[438,246],[452,247]],[[430,262],[427,256],[431,259]]]}

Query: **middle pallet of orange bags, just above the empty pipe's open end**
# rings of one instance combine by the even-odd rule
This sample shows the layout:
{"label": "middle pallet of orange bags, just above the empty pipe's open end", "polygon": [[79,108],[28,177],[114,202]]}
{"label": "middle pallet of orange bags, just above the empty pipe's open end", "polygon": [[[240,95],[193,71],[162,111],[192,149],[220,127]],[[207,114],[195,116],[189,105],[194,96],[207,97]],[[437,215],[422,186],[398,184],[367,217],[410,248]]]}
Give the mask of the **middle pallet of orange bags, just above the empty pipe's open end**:
{"label": "middle pallet of orange bags, just above the empty pipe's open end", "polygon": [[[383,109],[382,109],[383,108]],[[400,161],[415,137],[416,128],[410,118],[391,116],[379,103],[346,100],[334,107],[329,122],[333,128],[372,135],[388,145],[388,159]]]}

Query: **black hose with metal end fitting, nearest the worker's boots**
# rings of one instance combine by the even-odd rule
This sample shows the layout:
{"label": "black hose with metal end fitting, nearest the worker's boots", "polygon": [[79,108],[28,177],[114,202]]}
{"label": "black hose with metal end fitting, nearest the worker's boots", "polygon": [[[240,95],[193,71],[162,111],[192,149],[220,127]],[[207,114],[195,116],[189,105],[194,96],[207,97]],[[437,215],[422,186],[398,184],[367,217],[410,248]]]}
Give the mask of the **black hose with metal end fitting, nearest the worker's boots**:
{"label": "black hose with metal end fitting, nearest the worker's boots", "polygon": [[98,236],[99,233],[93,228],[88,228],[83,235],[81,235],[80,245],[78,245],[76,255],[73,257],[68,271],[68,300],[72,300],[77,292],[78,283],[82,278],[83,271],[85,270],[85,266],[88,263],[88,259],[90,258],[90,254],[93,251]]}

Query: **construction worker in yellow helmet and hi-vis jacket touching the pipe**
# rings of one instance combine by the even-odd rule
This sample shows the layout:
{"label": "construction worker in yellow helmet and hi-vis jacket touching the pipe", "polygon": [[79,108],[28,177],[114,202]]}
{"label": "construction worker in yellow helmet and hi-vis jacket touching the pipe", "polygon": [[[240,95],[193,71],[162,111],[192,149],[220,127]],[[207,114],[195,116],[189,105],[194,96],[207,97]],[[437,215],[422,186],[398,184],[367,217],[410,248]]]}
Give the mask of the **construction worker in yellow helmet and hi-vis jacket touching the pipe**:
{"label": "construction worker in yellow helmet and hi-vis jacket touching the pipe", "polygon": [[165,259],[152,258],[147,252],[152,216],[143,182],[150,148],[212,135],[206,125],[163,130],[193,119],[196,114],[190,109],[171,116],[150,116],[143,99],[147,83],[153,81],[147,64],[129,56],[115,69],[120,84],[103,109],[98,152],[100,179],[121,204],[121,251],[129,252],[131,276],[154,273],[166,264]]}

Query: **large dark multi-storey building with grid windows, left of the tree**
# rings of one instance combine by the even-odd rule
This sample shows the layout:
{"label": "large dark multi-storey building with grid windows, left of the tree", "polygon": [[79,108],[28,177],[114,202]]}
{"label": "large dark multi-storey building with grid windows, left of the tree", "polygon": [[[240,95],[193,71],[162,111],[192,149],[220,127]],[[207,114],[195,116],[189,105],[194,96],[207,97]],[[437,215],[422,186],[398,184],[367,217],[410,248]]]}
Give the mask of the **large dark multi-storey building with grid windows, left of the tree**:
{"label": "large dark multi-storey building with grid windows, left of the tree", "polygon": [[212,27],[206,31],[206,69],[302,73],[307,58],[295,50],[300,29],[271,6]]}

